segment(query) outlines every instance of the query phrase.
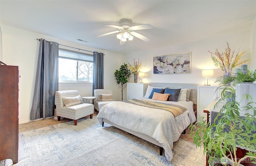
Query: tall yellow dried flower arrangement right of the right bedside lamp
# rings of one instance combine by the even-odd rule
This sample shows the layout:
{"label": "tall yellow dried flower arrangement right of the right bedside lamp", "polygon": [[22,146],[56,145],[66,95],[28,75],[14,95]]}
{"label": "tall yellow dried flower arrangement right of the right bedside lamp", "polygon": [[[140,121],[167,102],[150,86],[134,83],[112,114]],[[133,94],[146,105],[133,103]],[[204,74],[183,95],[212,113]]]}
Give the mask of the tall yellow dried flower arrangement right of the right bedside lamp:
{"label": "tall yellow dried flower arrangement right of the right bedside lamp", "polygon": [[225,48],[225,52],[220,53],[218,49],[216,49],[215,52],[210,52],[210,51],[208,52],[211,53],[211,57],[214,65],[219,66],[221,70],[224,71],[224,75],[217,77],[215,82],[220,82],[220,84],[227,84],[227,80],[229,80],[228,84],[230,85],[231,84],[230,81],[232,81],[232,78],[233,78],[231,74],[232,69],[236,66],[239,66],[247,62],[248,60],[244,60],[240,62],[240,58],[242,57],[242,55],[244,55],[245,51],[240,54],[239,54],[239,51],[238,53],[236,53],[235,51],[231,52],[228,42],[226,43],[227,43],[227,48]]}

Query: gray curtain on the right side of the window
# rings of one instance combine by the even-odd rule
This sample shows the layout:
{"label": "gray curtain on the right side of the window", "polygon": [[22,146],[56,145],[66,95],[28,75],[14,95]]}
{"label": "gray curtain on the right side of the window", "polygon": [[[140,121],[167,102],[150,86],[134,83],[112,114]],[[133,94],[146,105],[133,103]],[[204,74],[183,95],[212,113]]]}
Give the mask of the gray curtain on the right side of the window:
{"label": "gray curtain on the right side of the window", "polygon": [[103,75],[104,75],[104,54],[93,52],[93,85],[92,95],[94,89],[104,89]]}

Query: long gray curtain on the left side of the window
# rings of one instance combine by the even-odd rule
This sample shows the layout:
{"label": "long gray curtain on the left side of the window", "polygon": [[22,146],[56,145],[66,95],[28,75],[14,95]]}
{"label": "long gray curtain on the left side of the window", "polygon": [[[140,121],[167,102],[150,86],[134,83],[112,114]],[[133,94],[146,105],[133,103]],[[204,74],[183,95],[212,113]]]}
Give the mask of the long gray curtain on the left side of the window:
{"label": "long gray curtain on the left side of the window", "polygon": [[58,91],[59,44],[41,38],[30,120],[54,116],[54,97]]}

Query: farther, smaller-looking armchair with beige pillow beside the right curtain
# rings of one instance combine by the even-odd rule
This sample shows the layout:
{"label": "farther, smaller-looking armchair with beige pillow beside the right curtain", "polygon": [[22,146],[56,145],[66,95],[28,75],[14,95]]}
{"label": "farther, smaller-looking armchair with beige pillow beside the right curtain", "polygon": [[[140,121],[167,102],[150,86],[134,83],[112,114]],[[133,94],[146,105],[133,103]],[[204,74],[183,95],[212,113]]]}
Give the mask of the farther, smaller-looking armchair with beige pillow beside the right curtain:
{"label": "farther, smaller-looking armchair with beige pillow beside the right curtain", "polygon": [[94,110],[100,111],[100,108],[108,103],[114,102],[111,89],[94,89]]}

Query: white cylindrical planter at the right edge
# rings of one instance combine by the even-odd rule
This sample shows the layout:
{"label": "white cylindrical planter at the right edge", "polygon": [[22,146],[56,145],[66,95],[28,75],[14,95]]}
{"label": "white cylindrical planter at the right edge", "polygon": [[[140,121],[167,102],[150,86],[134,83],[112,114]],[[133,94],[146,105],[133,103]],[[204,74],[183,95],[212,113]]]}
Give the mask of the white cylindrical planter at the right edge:
{"label": "white cylindrical planter at the right edge", "polygon": [[[246,100],[243,98],[244,94],[250,94],[253,100]],[[237,102],[240,102],[240,107],[245,106],[248,102],[253,101],[256,102],[256,84],[251,82],[236,84],[236,99]],[[256,106],[253,105],[254,107]],[[248,110],[246,112],[241,112],[242,114],[250,113],[253,114],[252,110]]]}

